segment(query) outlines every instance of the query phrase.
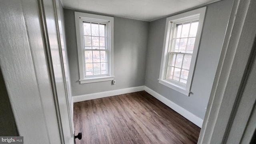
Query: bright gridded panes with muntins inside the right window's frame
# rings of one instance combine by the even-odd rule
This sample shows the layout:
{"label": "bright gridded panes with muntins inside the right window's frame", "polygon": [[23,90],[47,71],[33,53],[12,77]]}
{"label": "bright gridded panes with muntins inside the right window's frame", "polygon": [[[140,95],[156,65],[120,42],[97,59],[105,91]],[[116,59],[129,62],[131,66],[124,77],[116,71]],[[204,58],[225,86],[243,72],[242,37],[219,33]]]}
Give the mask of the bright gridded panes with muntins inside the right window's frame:
{"label": "bright gridded panes with muntins inside the right window's frame", "polygon": [[166,80],[186,86],[196,40],[198,20],[174,24],[170,39]]}

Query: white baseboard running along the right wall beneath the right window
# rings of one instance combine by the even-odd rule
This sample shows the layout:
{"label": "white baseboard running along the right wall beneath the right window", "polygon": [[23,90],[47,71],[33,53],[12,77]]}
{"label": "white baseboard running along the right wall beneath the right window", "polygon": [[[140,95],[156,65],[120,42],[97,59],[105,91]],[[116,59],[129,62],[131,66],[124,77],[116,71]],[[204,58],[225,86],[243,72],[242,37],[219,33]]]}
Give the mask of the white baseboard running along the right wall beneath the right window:
{"label": "white baseboard running along the right wall beneath the right window", "polygon": [[167,98],[165,98],[164,96],[158,94],[157,92],[155,92],[154,90],[151,90],[150,88],[145,86],[144,89],[146,92],[148,92],[149,94],[151,94],[152,96],[154,96],[156,99],[160,100],[162,103],[166,104],[166,106],[169,106],[170,108],[172,108],[174,111],[178,112],[180,115],[184,116],[186,119],[188,119],[190,122],[193,122],[195,125],[197,125],[198,127],[202,128],[202,124],[203,121],[201,118],[199,118],[198,116],[192,114],[191,112],[185,110],[184,108],[182,108],[181,106],[179,106],[178,104],[175,104],[174,102],[168,100]]}

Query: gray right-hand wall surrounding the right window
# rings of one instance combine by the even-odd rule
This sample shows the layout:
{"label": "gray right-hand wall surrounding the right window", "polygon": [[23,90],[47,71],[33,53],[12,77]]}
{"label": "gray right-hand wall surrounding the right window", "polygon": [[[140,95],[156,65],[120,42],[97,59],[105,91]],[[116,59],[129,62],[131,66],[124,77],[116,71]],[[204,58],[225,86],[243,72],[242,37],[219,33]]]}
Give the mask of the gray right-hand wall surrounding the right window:
{"label": "gray right-hand wall surrounding the right window", "polygon": [[166,18],[150,22],[145,86],[204,118],[233,0],[208,5],[190,96],[158,83]]}

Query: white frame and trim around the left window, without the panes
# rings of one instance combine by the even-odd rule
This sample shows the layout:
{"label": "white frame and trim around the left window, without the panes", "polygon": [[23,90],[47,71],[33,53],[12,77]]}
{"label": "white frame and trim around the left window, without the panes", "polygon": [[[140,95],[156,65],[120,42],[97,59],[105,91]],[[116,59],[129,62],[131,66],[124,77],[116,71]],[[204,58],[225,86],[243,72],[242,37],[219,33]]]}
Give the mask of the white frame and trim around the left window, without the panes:
{"label": "white frame and trim around the left window, without the panes", "polygon": [[[83,22],[102,22],[106,24],[106,48],[108,49],[108,74],[106,76],[86,76],[84,66]],[[80,84],[114,80],[114,18],[96,14],[75,12],[76,40],[78,51]]]}

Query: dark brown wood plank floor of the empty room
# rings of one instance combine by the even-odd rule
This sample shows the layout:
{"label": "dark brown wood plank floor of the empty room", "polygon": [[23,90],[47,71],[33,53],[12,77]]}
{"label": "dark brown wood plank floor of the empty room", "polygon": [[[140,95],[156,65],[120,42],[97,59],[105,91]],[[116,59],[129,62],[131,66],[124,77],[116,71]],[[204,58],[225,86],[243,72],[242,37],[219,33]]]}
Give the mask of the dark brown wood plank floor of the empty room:
{"label": "dark brown wood plank floor of the empty room", "polygon": [[145,91],[74,103],[76,144],[196,144],[200,128]]}

